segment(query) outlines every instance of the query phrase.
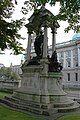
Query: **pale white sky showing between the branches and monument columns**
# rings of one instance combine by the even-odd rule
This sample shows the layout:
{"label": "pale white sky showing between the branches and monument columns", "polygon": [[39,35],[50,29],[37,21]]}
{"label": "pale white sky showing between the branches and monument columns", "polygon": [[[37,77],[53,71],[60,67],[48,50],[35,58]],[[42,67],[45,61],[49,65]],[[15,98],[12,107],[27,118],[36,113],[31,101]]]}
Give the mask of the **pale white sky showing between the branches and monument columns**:
{"label": "pale white sky showing between the branches and monument columns", "polygon": [[[13,14],[13,19],[20,19],[23,16],[23,14],[20,12],[21,10],[21,6],[23,5],[23,1],[25,0],[18,0],[18,6],[16,6],[16,10]],[[57,3],[55,7],[51,7],[48,4],[46,5],[46,8],[49,9],[54,15],[58,14],[59,12],[59,4]],[[29,12],[26,15],[26,23],[28,22],[28,18],[31,16],[33,12]],[[68,33],[64,32],[64,29],[68,26],[67,22],[59,22],[60,24],[60,28],[57,29],[57,34],[56,34],[56,43],[61,43],[61,42],[66,42],[72,39],[74,32],[71,30]],[[28,38],[28,34],[27,34],[27,29],[25,27],[23,27],[19,33],[22,35],[22,37],[25,38],[25,40],[20,40],[20,42],[22,43],[23,47],[26,49],[27,47],[27,38]],[[48,39],[48,44],[51,45],[50,42],[50,37]],[[12,65],[19,65],[21,63],[21,60],[24,59],[23,55],[10,55],[11,51],[9,50],[5,50],[4,51],[5,54],[1,54],[0,55],[0,63],[4,64],[6,67],[9,67],[10,64],[12,63]]]}

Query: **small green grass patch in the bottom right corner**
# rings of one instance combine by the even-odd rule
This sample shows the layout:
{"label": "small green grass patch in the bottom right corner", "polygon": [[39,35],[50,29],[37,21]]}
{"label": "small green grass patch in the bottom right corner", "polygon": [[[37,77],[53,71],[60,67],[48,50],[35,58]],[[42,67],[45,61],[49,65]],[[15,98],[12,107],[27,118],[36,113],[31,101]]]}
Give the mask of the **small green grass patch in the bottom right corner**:
{"label": "small green grass patch in the bottom right corner", "polygon": [[80,120],[80,114],[65,115],[58,120]]}

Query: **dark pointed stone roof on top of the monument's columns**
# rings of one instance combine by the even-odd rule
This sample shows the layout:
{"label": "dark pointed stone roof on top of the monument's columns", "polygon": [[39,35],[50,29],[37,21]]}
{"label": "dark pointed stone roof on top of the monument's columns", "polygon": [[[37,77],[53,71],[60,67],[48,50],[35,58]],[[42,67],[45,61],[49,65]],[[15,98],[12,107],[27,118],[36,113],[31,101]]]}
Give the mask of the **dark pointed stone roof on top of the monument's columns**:
{"label": "dark pointed stone roof on top of the monument's columns", "polygon": [[35,32],[36,34],[39,32],[41,27],[44,27],[45,25],[47,28],[53,29],[59,28],[59,24],[55,19],[55,16],[45,8],[45,6],[42,6],[40,9],[37,9],[34,11],[32,16],[28,19],[29,23],[25,26],[28,28],[28,32]]}

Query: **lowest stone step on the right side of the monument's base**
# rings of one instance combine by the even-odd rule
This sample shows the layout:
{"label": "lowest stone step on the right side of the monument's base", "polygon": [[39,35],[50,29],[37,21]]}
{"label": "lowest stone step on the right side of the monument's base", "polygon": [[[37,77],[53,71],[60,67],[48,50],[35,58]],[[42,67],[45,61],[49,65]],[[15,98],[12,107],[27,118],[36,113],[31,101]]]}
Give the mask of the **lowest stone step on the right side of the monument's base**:
{"label": "lowest stone step on the right side of the monument's base", "polygon": [[77,102],[74,102],[73,106],[58,108],[58,112],[59,113],[62,113],[62,112],[71,112],[71,111],[74,111],[74,110],[78,109],[79,107],[80,107],[80,104],[77,103]]}

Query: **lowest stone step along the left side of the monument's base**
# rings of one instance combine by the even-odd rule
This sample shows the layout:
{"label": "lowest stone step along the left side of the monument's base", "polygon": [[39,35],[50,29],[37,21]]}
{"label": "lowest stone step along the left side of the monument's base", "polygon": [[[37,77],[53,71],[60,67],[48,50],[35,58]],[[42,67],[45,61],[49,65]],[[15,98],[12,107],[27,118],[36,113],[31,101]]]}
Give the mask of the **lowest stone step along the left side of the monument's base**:
{"label": "lowest stone step along the left side of the monument's base", "polygon": [[[34,106],[27,106],[26,105],[23,105],[23,104],[18,104],[18,103],[15,103],[13,101],[9,101],[8,99],[0,99],[0,102],[11,107],[11,108],[14,108],[14,109],[19,109],[19,110],[22,110],[22,111],[27,111],[27,112],[32,112],[34,114],[38,114],[38,115],[46,115],[46,116],[50,116],[51,115],[51,112],[50,112],[50,109],[42,109],[42,108],[35,108]],[[55,109],[52,113],[57,113],[57,109]]]}

